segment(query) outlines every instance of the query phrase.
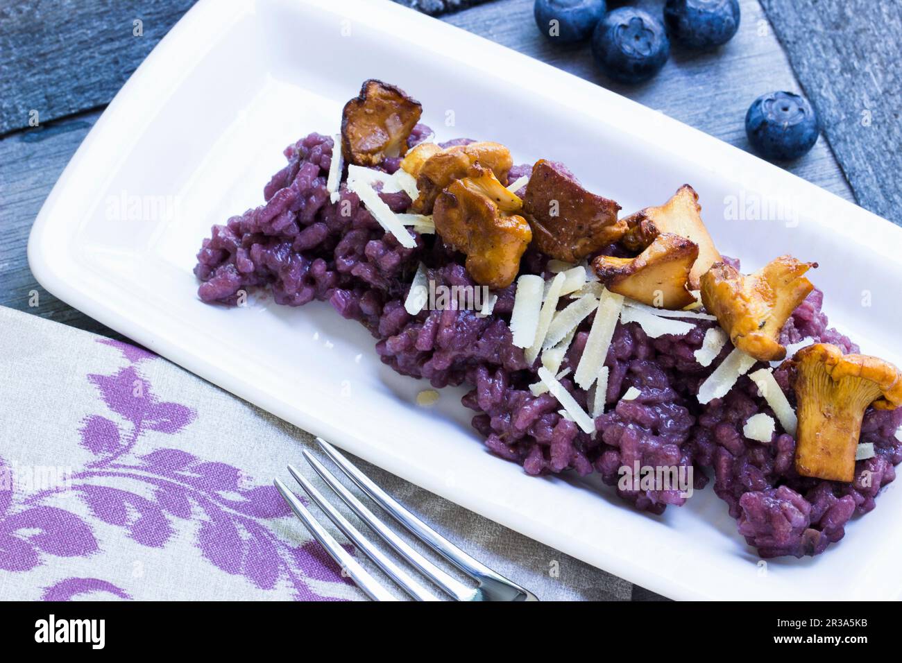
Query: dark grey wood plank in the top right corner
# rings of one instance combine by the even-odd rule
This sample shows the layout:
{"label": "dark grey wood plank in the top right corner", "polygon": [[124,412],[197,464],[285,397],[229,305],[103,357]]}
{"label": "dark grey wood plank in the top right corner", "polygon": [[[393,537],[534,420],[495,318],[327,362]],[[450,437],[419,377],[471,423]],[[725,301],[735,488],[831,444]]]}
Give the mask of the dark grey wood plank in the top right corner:
{"label": "dark grey wood plank in the top right corner", "polygon": [[902,225],[902,2],[762,3],[859,204]]}

